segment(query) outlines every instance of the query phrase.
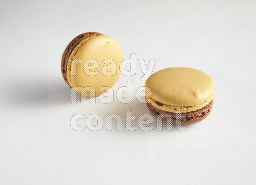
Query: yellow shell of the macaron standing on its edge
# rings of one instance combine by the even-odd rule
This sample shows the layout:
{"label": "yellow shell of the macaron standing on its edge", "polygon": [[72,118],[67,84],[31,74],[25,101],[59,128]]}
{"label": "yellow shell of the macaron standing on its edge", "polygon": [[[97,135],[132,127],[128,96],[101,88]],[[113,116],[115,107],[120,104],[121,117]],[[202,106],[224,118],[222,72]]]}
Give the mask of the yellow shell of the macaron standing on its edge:
{"label": "yellow shell of the macaron standing on its edge", "polygon": [[[72,75],[70,73],[71,61],[75,59],[81,59],[82,63],[76,64],[76,75]],[[97,62],[95,63],[95,60],[92,59],[97,60],[99,62],[99,66],[97,66]],[[113,59],[116,62],[109,59]],[[105,61],[104,64],[102,63],[103,60]],[[106,35],[92,36],[84,39],[76,46],[69,57],[67,66],[68,82],[72,88],[88,86],[93,87],[96,91],[96,96],[98,96],[102,93],[99,90],[100,87],[112,87],[116,83],[117,79],[121,75],[120,69],[122,70],[123,68],[123,66],[120,67],[120,62],[122,60],[124,60],[124,53],[121,46],[116,42],[115,39]],[[95,69],[90,69],[93,61],[93,67],[95,67]],[[87,74],[84,72],[84,70],[87,72]],[[110,71],[112,74],[108,73],[108,75],[106,75],[106,73],[104,74],[104,71]]]}

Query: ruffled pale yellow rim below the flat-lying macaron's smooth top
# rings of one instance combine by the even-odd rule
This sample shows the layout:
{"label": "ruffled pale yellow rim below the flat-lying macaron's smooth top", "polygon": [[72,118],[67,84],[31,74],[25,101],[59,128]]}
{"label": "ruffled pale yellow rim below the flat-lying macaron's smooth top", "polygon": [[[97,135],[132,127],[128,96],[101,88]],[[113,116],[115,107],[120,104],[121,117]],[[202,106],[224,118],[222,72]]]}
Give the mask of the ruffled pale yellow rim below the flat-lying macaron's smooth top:
{"label": "ruffled pale yellow rim below the flat-lying macaron's smooth top", "polygon": [[205,107],[206,105],[208,105],[212,101],[214,95],[215,95],[215,92],[204,103],[201,103],[199,105],[187,106],[187,107],[176,107],[176,106],[172,106],[172,105],[163,104],[161,102],[157,102],[156,100],[154,100],[150,97],[148,97],[147,99],[149,100],[149,103],[151,103],[154,107],[156,107],[158,109],[165,110],[165,111],[168,111],[168,112],[173,112],[173,113],[175,113],[177,111],[185,113],[185,112],[192,112],[192,111],[195,111],[195,110],[202,109],[203,107]]}

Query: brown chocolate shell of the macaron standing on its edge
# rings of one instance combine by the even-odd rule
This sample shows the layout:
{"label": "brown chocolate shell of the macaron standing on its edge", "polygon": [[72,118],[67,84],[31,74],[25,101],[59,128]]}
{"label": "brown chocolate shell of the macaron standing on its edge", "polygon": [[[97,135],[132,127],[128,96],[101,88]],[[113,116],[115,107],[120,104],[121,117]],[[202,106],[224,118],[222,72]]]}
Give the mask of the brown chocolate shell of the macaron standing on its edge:
{"label": "brown chocolate shell of the macaron standing on its edge", "polygon": [[64,78],[64,80],[66,81],[66,83],[68,84],[68,86],[71,88],[71,86],[68,83],[68,78],[67,78],[67,65],[68,65],[68,58],[70,56],[70,54],[72,53],[72,51],[75,49],[75,47],[84,39],[88,38],[88,37],[92,37],[95,35],[102,35],[101,33],[97,33],[97,32],[87,32],[87,33],[83,33],[81,35],[78,35],[75,39],[73,39],[68,46],[66,47],[62,58],[61,58],[61,73],[62,76]]}

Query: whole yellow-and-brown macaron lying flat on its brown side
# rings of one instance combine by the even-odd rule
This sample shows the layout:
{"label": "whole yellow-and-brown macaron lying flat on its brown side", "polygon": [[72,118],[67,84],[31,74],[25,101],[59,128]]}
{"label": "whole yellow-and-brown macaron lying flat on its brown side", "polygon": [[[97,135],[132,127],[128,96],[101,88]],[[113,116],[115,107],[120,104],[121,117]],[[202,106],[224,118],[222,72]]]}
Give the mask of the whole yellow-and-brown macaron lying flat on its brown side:
{"label": "whole yellow-and-brown macaron lying flat on its brown side", "polygon": [[148,110],[153,116],[168,114],[170,117],[163,117],[163,121],[172,119],[176,124],[181,119],[182,125],[188,125],[210,114],[215,84],[209,75],[197,69],[166,68],[148,78],[145,91]]}

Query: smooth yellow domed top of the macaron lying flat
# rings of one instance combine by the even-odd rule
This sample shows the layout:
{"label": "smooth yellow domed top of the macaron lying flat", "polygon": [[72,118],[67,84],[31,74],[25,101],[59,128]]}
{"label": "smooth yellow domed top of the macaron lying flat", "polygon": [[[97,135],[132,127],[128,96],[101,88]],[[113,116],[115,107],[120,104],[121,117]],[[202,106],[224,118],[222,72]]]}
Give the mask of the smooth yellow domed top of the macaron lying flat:
{"label": "smooth yellow domed top of the macaron lying flat", "polygon": [[151,96],[146,92],[147,98],[153,99],[150,103],[154,105],[157,101],[165,104],[164,108],[158,107],[162,110],[170,109],[170,106],[173,110],[177,110],[175,107],[183,107],[185,110],[182,112],[197,110],[209,103],[215,93],[212,78],[193,68],[163,69],[151,75],[145,86],[152,91]]}

